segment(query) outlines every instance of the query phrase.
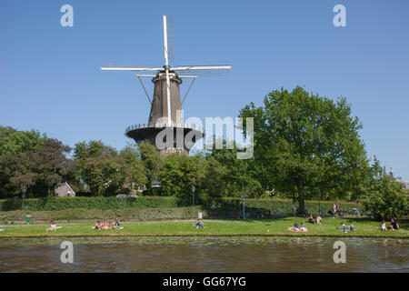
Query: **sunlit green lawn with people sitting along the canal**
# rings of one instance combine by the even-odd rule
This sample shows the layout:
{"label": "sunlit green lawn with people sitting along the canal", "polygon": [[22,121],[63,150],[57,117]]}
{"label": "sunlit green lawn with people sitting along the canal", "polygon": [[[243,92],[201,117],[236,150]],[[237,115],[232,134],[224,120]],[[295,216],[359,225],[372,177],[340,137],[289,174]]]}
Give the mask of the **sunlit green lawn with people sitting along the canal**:
{"label": "sunlit green lawn with people sitting along the canal", "polygon": [[[293,226],[294,222],[300,223],[300,217],[284,217],[274,219],[248,219],[240,220],[204,220],[205,228],[194,228],[192,223],[195,220],[181,221],[155,221],[155,222],[135,222],[123,223],[124,229],[120,230],[95,230],[94,224],[64,224],[60,229],[52,232],[45,232],[49,225],[30,226],[0,226],[0,237],[11,236],[387,236],[409,238],[409,222],[400,223],[399,231],[383,232],[380,230],[380,223],[366,218],[332,218],[325,217],[324,224],[306,224],[308,232],[294,233],[287,230]],[[306,222],[306,219],[304,219]],[[349,226],[351,222],[357,228],[354,232],[344,233],[336,230],[344,222]],[[389,226],[390,224],[386,224]]]}

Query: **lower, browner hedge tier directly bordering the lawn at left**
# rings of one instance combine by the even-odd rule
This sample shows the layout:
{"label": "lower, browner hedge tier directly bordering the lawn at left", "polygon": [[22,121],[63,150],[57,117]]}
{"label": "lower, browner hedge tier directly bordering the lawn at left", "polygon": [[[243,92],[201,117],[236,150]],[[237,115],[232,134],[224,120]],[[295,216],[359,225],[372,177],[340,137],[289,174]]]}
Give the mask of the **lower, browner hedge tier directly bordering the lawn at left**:
{"label": "lower, browner hedge tier directly bordering the lawn at left", "polygon": [[[200,206],[176,208],[125,208],[125,209],[65,209],[56,211],[2,211],[0,222],[11,223],[25,221],[26,215],[32,216],[32,221],[51,222],[61,220],[160,220],[160,219],[192,219],[197,218]],[[205,212],[203,212],[205,216]]]}

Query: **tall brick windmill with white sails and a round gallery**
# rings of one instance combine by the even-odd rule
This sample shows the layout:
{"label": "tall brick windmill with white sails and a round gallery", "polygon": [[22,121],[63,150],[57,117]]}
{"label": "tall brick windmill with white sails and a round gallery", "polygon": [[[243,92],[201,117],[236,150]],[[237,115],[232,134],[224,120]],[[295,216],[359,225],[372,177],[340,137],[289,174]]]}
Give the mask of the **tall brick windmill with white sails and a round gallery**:
{"label": "tall brick windmill with white sails and a round gallery", "polygon": [[[174,59],[173,54],[173,29],[172,18],[164,15],[164,51],[165,65],[163,67],[133,67],[119,65],[105,65],[101,67],[103,71],[134,71],[134,72],[156,72],[155,75],[142,75],[136,73],[141,85],[144,88],[150,104],[151,111],[147,124],[132,125],[126,128],[125,135],[131,137],[136,143],[146,141],[157,146],[156,141],[160,133],[167,133],[162,139],[165,142],[165,148],[158,148],[160,153],[185,153],[194,146],[195,142],[203,138],[204,131],[195,125],[186,125],[182,111],[182,105],[185,102],[195,79],[205,75],[224,75],[228,74],[232,68],[231,65],[169,65],[169,60]],[[184,75],[179,75],[184,74]],[[152,83],[155,85],[153,99],[146,92],[142,77],[152,77]],[[180,98],[180,85],[182,79],[192,79],[183,101]],[[183,135],[182,135],[183,134]],[[169,138],[176,136],[177,138]],[[185,137],[189,137],[186,141]],[[169,140],[166,140],[169,139]]]}

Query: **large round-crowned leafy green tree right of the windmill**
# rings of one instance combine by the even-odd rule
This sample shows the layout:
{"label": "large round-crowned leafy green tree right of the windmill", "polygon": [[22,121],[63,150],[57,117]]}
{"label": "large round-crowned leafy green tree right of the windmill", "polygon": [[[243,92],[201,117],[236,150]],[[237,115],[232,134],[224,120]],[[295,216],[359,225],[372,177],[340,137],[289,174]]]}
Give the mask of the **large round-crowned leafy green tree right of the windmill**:
{"label": "large round-crowned leafy green tree right of the windmill", "polygon": [[358,134],[362,125],[345,98],[334,102],[301,86],[292,92],[282,88],[266,95],[263,106],[246,105],[240,116],[254,117],[254,175],[264,188],[297,200],[300,214],[304,200],[319,193],[349,199],[364,193],[368,161]]}

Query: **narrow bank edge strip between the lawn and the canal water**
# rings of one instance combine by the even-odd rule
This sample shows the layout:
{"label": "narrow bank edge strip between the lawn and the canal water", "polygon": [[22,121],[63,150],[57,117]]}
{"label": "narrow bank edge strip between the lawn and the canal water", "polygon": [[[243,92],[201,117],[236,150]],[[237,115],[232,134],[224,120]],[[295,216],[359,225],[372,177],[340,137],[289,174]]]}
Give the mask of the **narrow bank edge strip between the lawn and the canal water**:
{"label": "narrow bank edge strip between the lawn and the canal water", "polygon": [[285,237],[358,237],[358,238],[393,238],[393,239],[409,239],[409,236],[368,236],[368,235],[306,235],[304,233],[300,234],[159,234],[159,235],[117,235],[117,234],[107,234],[107,235],[52,235],[52,236],[0,236],[2,238],[50,238],[50,237],[234,237],[234,236],[259,236],[259,237],[274,237],[274,236],[285,236]]}

